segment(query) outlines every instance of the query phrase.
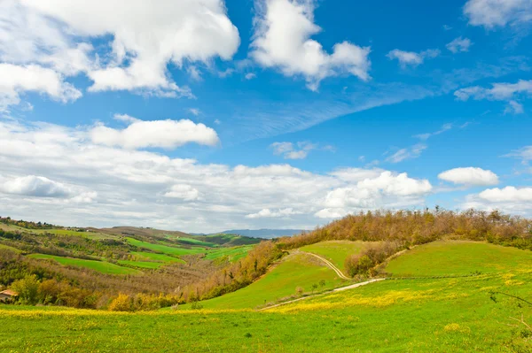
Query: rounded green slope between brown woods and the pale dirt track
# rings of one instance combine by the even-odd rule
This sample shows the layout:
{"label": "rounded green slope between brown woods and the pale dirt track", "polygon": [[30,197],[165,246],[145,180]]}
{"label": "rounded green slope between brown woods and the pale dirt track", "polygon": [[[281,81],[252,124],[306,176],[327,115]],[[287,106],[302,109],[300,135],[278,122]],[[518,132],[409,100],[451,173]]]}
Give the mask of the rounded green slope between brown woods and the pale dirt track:
{"label": "rounded green slope between brown woods and the pale dirt track", "polygon": [[[340,280],[335,272],[323,265],[315,257],[305,254],[293,254],[286,257],[262,279],[256,280],[246,288],[201,302],[206,309],[242,309],[255,308],[264,303],[274,302],[288,295],[295,295],[295,288],[301,287],[311,292],[311,286],[325,280],[325,287],[318,290],[338,287]],[[186,307],[186,306],[185,306]]]}

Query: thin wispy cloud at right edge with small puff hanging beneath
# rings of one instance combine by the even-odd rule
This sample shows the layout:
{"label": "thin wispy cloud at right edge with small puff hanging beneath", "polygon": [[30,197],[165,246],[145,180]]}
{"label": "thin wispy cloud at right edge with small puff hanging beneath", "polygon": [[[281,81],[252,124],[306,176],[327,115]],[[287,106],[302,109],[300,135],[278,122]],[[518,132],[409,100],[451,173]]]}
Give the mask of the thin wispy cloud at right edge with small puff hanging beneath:
{"label": "thin wispy cloud at right edge with small puff hanging beneath", "polygon": [[507,101],[505,112],[512,112],[520,114],[524,111],[522,104],[516,99],[520,96],[532,95],[532,80],[520,80],[516,83],[493,83],[491,88],[482,88],[480,86],[472,86],[467,88],[460,88],[455,91],[454,96],[459,101],[467,101],[469,98],[475,100],[487,99],[490,101]]}

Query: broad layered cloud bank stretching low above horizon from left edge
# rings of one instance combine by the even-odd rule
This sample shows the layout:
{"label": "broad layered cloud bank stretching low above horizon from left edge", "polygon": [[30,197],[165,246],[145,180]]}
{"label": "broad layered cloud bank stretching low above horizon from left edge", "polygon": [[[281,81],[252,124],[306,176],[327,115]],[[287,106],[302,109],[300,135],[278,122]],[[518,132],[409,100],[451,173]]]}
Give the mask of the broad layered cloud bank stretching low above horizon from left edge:
{"label": "broad layered cloud bank stretching low above horizon from left edge", "polygon": [[[0,120],[4,178],[0,184],[24,175],[46,175],[74,190],[66,198],[4,193],[0,214],[54,219],[59,224],[128,224],[190,232],[271,226],[308,228],[321,221],[318,217],[325,214],[325,209],[331,209],[328,214],[332,215],[422,206],[422,191],[430,189],[424,180],[374,168],[312,173],[286,164],[202,164],[149,150],[95,143],[90,133],[90,127]],[[355,191],[346,190],[343,203],[332,199],[335,194],[327,198],[333,190],[342,188]],[[356,196],[357,192],[367,193],[367,197]],[[364,202],[353,202],[356,197]],[[84,203],[72,207],[74,202]],[[292,211],[287,210],[290,208]],[[279,216],[246,218],[262,210]]]}

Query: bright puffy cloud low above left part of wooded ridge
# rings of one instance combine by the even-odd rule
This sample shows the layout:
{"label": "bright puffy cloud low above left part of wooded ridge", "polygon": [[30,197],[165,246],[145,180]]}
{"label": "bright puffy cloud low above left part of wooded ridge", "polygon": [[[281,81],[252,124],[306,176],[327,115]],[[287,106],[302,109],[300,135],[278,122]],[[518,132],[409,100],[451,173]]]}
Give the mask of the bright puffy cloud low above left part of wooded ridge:
{"label": "bright puffy cloud low above left part of wooded ridge", "polygon": [[410,178],[406,173],[382,172],[376,178],[360,180],[355,186],[335,188],[325,197],[325,209],[315,214],[319,218],[335,218],[348,211],[377,208],[386,203],[387,208],[404,207],[422,203],[430,193],[428,180]]}

